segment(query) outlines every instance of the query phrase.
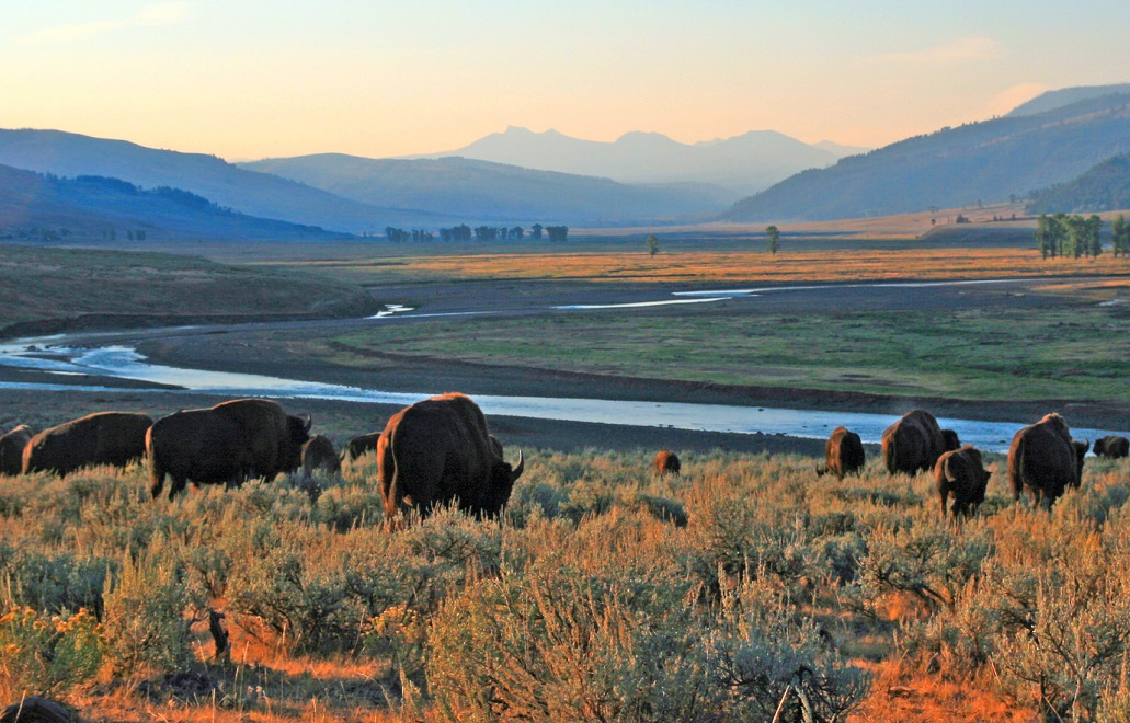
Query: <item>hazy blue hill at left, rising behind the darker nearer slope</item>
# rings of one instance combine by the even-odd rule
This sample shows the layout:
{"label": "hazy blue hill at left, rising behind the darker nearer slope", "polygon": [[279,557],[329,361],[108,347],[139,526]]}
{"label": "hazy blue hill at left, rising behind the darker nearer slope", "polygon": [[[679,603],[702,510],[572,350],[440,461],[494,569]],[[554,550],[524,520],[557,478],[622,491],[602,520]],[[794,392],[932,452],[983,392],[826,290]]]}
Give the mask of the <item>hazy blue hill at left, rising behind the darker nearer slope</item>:
{"label": "hazy blue hill at left, rising behind the darker nearer slope", "polygon": [[420,211],[377,208],[293,181],[237,168],[215,156],[157,150],[52,130],[0,130],[0,164],[58,176],[111,176],[144,188],[182,189],[250,216],[349,233],[435,225]]}

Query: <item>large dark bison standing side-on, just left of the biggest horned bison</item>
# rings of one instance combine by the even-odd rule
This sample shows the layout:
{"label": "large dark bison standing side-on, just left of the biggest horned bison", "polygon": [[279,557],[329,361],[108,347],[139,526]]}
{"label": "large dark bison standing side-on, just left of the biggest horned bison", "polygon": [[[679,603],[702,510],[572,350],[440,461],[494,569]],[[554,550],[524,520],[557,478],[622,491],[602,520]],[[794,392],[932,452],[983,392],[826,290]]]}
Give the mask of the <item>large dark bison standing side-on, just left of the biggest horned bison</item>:
{"label": "large dark bison standing side-on, just left of the biggest horned bison", "polygon": [[146,435],[149,491],[158,497],[166,476],[173,478],[172,499],[189,481],[232,486],[293,472],[310,426],[310,418],[287,415],[267,399],[236,399],[158,419]]}

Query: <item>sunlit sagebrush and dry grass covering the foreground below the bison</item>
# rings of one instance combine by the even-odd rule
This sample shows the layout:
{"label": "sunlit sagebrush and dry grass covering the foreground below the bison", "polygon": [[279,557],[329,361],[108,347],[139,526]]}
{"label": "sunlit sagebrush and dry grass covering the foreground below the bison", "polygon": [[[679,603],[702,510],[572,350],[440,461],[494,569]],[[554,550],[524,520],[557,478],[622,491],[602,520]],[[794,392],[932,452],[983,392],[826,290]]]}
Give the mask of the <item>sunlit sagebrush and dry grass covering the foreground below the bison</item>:
{"label": "sunlit sagebrush and dry grass covering the foreground below the bison", "polygon": [[502,520],[399,531],[371,458],[320,495],[172,503],[140,467],[0,477],[0,695],[94,720],[1124,714],[1130,462],[1088,460],[1051,514],[994,478],[958,524],[877,460],[650,456],[530,453]]}

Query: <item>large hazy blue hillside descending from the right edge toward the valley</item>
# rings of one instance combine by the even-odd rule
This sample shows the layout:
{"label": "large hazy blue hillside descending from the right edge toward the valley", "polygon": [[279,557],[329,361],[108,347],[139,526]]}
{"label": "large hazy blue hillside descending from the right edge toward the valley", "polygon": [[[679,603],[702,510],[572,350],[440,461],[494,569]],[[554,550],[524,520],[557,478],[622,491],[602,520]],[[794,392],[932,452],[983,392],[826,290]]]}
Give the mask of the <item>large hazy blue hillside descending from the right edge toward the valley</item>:
{"label": "large hazy blue hillside descending from the right edge toward the valley", "polygon": [[1007,200],[1130,148],[1130,94],[918,136],[799,173],[736,203],[727,221],[822,220]]}

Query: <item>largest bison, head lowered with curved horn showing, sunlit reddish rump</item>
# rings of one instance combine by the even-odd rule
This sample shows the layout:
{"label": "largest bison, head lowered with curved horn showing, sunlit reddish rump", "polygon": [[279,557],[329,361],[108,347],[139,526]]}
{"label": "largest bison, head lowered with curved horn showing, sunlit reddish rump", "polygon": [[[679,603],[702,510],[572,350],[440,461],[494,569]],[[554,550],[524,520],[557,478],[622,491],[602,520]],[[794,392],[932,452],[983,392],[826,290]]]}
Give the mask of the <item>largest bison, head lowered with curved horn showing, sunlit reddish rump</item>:
{"label": "largest bison, head lowered with curved horn showing, sunlit reddish rump", "polygon": [[[496,446],[497,445],[497,446]],[[492,443],[487,420],[464,394],[433,397],[398,411],[377,442],[385,517],[403,508],[428,514],[436,505],[497,515],[522,474],[522,453],[511,468]]]}

